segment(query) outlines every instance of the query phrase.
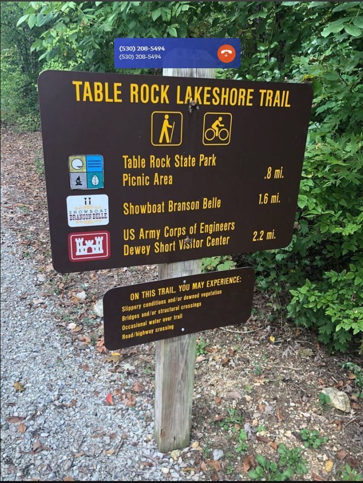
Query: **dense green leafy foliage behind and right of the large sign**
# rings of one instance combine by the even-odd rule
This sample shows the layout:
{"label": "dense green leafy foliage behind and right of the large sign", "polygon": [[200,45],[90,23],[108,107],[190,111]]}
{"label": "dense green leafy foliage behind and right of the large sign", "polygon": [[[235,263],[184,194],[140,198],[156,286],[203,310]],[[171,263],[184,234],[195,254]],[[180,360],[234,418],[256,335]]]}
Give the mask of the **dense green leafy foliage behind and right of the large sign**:
{"label": "dense green leafy foliage behind and right of the large sign", "polygon": [[288,294],[291,319],[316,328],[332,349],[345,350],[363,333],[362,2],[20,2],[17,8],[14,29],[34,37],[29,54],[38,56],[39,70],[117,71],[115,37],[240,37],[241,68],[217,77],[311,83],[292,243],[245,260],[260,288],[279,299]]}

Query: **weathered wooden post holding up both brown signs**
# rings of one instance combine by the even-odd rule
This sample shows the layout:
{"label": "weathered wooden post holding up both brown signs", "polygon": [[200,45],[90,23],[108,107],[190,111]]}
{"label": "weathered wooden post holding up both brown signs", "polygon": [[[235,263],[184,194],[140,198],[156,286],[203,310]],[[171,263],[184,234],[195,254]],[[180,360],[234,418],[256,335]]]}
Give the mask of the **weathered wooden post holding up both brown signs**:
{"label": "weathered wooden post holding up both brown signs", "polygon": [[[163,69],[163,75],[214,78],[215,69]],[[159,265],[159,279],[201,271],[202,260],[178,261]],[[196,339],[187,334],[156,343],[154,437],[163,453],[190,443]]]}

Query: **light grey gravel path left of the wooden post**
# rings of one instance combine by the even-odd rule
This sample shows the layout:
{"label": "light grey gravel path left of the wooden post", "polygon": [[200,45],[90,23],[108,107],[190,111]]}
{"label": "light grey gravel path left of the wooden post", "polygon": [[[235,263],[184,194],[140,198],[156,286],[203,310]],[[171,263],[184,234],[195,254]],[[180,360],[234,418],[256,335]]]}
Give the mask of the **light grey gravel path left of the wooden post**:
{"label": "light grey gravel path left of the wooden post", "polygon": [[[29,303],[41,298],[40,285],[14,236],[2,233],[2,479],[185,480],[187,463],[164,458],[152,440],[152,394],[136,395],[133,407],[105,404],[115,385],[134,385],[127,367],[110,374],[94,349],[57,330],[52,301]],[[10,416],[24,417],[25,432]]]}

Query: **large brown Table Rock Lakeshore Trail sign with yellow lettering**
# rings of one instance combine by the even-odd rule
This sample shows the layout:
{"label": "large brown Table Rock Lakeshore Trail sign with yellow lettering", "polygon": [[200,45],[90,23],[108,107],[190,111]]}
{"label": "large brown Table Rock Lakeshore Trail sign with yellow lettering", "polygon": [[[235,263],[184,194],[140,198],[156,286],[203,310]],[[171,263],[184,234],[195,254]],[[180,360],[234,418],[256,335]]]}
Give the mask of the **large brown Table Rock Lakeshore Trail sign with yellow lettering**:
{"label": "large brown Table Rock Lakeshore Trail sign with yellow lettering", "polygon": [[[57,271],[290,243],[309,85],[46,71],[38,86]],[[75,195],[108,196],[107,233],[97,235],[107,239],[97,246],[106,218],[84,226],[94,210],[69,212]],[[82,256],[68,244],[77,221]]]}

